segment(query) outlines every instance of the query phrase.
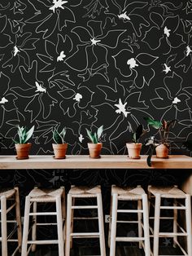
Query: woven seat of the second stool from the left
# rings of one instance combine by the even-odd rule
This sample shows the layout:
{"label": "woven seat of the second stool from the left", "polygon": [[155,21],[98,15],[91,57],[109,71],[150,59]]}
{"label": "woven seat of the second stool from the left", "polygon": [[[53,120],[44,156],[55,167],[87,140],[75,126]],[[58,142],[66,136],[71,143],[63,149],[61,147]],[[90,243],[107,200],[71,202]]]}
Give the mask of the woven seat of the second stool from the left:
{"label": "woven seat of the second stool from the left", "polygon": [[41,189],[33,188],[33,190],[28,194],[31,197],[31,201],[37,202],[54,202],[57,196],[62,196],[63,189]]}

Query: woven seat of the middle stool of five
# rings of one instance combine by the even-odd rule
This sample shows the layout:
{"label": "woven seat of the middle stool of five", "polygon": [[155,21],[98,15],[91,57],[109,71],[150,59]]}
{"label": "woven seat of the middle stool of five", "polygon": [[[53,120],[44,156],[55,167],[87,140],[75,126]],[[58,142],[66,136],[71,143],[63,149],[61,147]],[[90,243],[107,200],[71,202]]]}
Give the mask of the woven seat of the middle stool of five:
{"label": "woven seat of the middle stool of five", "polygon": [[101,193],[101,187],[96,186],[93,188],[89,187],[76,187],[72,186],[68,194],[75,196],[75,197],[95,197],[97,196],[98,193]]}

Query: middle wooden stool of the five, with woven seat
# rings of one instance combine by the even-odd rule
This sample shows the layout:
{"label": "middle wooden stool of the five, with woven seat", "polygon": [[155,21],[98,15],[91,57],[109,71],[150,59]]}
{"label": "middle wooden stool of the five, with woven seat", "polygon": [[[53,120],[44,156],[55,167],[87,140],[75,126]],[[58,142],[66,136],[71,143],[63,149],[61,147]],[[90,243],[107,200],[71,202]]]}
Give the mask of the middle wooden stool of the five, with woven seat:
{"label": "middle wooden stool of the five, with woven seat", "polygon": [[[97,205],[75,205],[76,198],[97,198]],[[73,219],[86,219],[85,217],[74,217],[75,209],[97,209],[98,217],[87,219],[98,219],[98,232],[73,232]],[[65,256],[70,255],[70,241],[72,238],[99,238],[101,256],[106,256],[105,236],[103,227],[103,204],[100,186],[94,188],[72,186],[68,192],[67,223],[66,223],[66,243]]]}

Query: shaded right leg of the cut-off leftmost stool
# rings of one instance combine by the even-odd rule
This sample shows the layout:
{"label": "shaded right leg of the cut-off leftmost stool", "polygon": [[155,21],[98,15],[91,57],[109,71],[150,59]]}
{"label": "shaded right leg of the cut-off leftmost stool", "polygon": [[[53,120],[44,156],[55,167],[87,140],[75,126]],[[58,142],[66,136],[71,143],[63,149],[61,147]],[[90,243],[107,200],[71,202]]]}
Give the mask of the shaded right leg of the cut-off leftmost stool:
{"label": "shaded right leg of the cut-off leftmost stool", "polygon": [[16,214],[16,222],[17,222],[17,239],[18,239],[18,246],[21,250],[21,243],[22,243],[22,227],[21,227],[21,219],[20,219],[20,194],[19,188],[15,188],[15,214]]}

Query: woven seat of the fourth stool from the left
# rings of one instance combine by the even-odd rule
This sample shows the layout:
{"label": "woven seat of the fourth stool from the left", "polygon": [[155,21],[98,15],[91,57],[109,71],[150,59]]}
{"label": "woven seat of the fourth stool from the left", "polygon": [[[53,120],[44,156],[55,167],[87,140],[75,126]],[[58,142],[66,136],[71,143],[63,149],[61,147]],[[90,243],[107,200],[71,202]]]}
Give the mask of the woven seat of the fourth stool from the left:
{"label": "woven seat of the fourth stool from the left", "polygon": [[136,188],[120,188],[112,186],[111,194],[117,194],[119,200],[142,200],[142,195],[145,194],[145,191],[139,186]]}

